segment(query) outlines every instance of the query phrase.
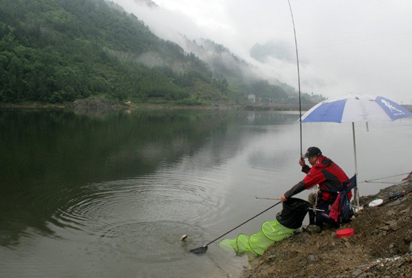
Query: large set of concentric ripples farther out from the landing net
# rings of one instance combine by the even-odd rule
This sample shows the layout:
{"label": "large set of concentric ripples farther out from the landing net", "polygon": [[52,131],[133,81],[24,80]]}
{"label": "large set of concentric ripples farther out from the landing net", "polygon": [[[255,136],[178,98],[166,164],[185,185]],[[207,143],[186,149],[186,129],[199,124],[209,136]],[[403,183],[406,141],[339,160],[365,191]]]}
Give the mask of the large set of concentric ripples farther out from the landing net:
{"label": "large set of concentric ripples farther out from the landing net", "polygon": [[52,224],[90,234],[125,221],[196,224],[210,219],[223,206],[212,182],[187,173],[157,173],[88,184],[56,211]]}

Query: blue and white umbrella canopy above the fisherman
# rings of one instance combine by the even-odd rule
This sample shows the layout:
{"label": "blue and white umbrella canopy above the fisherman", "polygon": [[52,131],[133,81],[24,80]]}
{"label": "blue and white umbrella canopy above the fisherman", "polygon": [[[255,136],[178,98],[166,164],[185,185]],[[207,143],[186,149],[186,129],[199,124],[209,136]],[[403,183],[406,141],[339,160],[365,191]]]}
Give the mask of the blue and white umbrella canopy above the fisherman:
{"label": "blue and white umbrella canopy above the fisherman", "polygon": [[322,101],[302,116],[302,122],[375,122],[412,116],[411,111],[382,96],[350,94]]}

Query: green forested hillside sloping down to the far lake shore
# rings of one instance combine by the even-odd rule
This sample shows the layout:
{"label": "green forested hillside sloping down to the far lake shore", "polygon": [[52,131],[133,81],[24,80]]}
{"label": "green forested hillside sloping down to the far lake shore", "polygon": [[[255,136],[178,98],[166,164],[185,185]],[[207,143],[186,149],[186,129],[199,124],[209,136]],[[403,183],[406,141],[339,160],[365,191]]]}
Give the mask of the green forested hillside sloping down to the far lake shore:
{"label": "green forested hillside sloping down to the far lake shore", "polygon": [[228,81],[230,72],[219,67],[216,72],[159,39],[111,2],[0,0],[3,103],[64,103],[93,95],[142,103],[242,103],[248,94],[260,94],[256,84],[264,85],[268,98],[288,95],[265,81]]}

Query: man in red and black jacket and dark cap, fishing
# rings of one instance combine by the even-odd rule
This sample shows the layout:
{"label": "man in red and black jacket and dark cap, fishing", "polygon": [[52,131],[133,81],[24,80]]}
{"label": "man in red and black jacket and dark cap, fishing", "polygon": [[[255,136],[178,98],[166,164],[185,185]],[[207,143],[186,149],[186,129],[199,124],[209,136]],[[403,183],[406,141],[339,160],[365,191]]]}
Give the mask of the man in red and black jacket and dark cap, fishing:
{"label": "man in red and black jacket and dark cap, fishing", "polygon": [[[304,158],[308,159],[312,167],[306,165]],[[299,159],[299,165],[302,167],[301,171],[306,173],[304,180],[301,180],[290,190],[286,191],[280,198],[280,201],[285,202],[293,195],[319,184],[319,191],[311,193],[308,197],[312,207],[316,204],[316,210],[309,211],[309,224],[321,226],[323,223],[327,223],[337,226],[338,222],[330,216],[330,211],[338,195],[337,191],[343,189],[343,182],[349,180],[349,178],[347,178],[341,167],[323,156],[321,150],[317,147],[310,147],[305,155]],[[352,197],[351,191],[347,192],[347,197],[350,200]]]}

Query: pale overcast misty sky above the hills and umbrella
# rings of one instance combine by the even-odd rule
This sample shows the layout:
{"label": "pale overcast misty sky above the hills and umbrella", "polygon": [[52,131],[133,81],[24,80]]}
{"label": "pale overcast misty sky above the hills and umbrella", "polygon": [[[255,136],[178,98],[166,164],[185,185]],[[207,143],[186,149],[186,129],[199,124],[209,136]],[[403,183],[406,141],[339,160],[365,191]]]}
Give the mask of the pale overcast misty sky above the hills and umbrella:
{"label": "pale overcast misty sky above the hills and umbrella", "polygon": [[[164,39],[178,40],[177,32],[189,39],[211,39],[260,67],[262,77],[298,87],[287,0],[155,0],[155,11],[137,4],[139,0],[114,1]],[[328,98],[353,92],[412,104],[412,1],[290,3],[302,92]],[[268,42],[282,45],[284,53],[274,53],[265,63],[249,55],[253,45]]]}

